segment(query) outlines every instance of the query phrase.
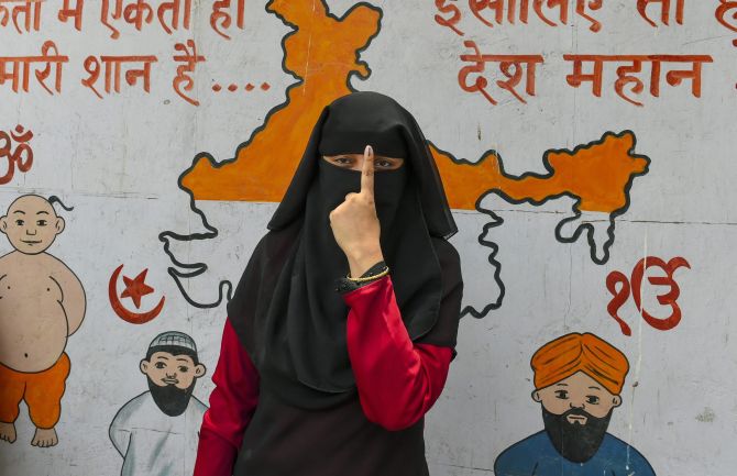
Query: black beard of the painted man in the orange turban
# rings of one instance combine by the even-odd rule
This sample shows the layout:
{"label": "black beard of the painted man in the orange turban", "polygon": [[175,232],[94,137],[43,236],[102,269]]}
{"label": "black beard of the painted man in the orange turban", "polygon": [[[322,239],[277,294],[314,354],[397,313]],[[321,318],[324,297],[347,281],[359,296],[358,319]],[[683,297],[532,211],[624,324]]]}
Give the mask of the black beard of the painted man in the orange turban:
{"label": "black beard of the painted man in the orange turban", "polygon": [[[550,441],[561,456],[573,463],[585,463],[602,445],[613,410],[606,417],[596,418],[578,408],[563,414],[554,414],[542,407],[542,421]],[[568,420],[571,414],[586,417],[586,424],[571,423]]]}

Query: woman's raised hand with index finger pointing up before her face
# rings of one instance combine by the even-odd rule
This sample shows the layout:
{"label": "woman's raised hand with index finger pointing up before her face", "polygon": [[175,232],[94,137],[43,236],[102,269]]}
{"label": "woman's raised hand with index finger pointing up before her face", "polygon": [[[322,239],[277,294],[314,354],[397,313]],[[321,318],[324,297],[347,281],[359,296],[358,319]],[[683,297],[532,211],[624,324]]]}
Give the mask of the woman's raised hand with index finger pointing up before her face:
{"label": "woman's raised hand with index finger pointing up before her face", "polygon": [[363,152],[361,191],[346,195],[345,201],[330,212],[330,226],[338,246],[345,253],[351,276],[359,277],[384,261],[374,203],[374,151],[371,145]]}

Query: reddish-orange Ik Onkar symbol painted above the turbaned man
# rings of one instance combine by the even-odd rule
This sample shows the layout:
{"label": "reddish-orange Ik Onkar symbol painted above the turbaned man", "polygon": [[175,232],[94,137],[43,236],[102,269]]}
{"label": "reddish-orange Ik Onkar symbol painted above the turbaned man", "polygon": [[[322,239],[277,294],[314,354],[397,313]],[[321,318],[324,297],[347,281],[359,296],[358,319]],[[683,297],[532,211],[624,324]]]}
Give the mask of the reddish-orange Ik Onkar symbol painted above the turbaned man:
{"label": "reddish-orange Ik Onkar symbol painted above the turbaned man", "polygon": [[[670,291],[664,295],[658,295],[658,302],[663,306],[670,306],[671,308],[671,314],[668,318],[656,318],[647,310],[642,309],[642,277],[645,277],[645,272],[651,267],[658,267],[666,272],[666,276],[651,276],[648,278],[648,281],[654,286],[670,286]],[[609,273],[606,277],[606,288],[609,290],[613,298],[606,307],[606,310],[609,312],[609,316],[617,321],[619,328],[622,328],[623,334],[632,335],[632,330],[617,314],[619,308],[622,308],[622,306],[629,299],[630,292],[640,316],[642,316],[645,322],[654,329],[668,331],[681,322],[681,308],[678,302],[675,302],[681,294],[681,289],[679,288],[678,283],[673,279],[673,273],[680,267],[691,269],[689,262],[680,256],[672,258],[668,263],[656,256],[647,256],[635,265],[629,280],[627,280],[627,276],[620,272]]]}

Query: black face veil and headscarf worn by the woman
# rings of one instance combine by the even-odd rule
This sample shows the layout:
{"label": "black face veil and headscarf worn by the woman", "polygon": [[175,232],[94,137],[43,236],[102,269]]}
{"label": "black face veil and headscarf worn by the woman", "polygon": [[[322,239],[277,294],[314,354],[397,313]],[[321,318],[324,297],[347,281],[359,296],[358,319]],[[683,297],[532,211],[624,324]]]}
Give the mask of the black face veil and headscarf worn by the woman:
{"label": "black face veil and headscarf worn by the woman", "polygon": [[374,195],[382,251],[409,336],[455,345],[459,309],[440,303],[462,286],[458,254],[446,241],[457,228],[427,142],[393,99],[344,96],[320,114],[270,232],[228,305],[261,385],[295,407],[328,408],[355,394],[345,342],[349,309],[334,289],[349,266],[329,213],[346,193],[360,191],[361,171],[321,156],[362,154],[366,145],[376,155],[405,159],[396,170],[375,174]]}

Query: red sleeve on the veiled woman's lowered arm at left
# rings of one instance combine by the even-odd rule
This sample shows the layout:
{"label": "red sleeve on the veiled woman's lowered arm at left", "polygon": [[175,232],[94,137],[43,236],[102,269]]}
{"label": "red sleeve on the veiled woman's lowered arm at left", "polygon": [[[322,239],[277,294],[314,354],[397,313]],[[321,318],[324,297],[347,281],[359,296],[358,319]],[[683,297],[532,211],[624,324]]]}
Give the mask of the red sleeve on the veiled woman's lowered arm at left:
{"label": "red sleeve on the veiled woman's lowered arm at left", "polygon": [[258,402],[258,373],[226,321],[220,358],[212,374],[216,387],[199,432],[194,476],[230,476],[243,432]]}

